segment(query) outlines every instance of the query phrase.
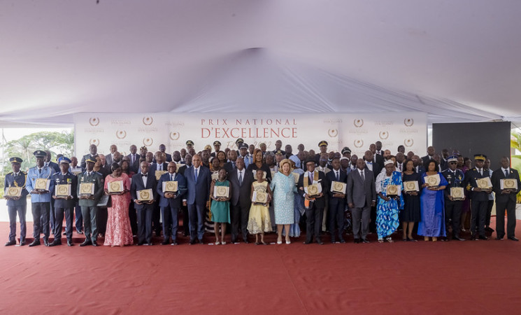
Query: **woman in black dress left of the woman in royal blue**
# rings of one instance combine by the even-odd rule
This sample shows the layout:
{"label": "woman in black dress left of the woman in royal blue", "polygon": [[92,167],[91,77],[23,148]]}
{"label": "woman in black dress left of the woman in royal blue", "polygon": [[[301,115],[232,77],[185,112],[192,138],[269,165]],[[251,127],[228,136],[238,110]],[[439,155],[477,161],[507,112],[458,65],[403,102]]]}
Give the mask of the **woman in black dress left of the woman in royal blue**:
{"label": "woman in black dress left of the woman in royal blue", "polygon": [[[404,229],[404,241],[417,241],[413,238],[415,223],[420,221],[420,191],[422,180],[416,173],[413,160],[404,162],[404,172],[401,173],[404,182],[404,210],[400,211],[401,226]],[[415,185],[417,190],[408,189],[408,185]]]}

